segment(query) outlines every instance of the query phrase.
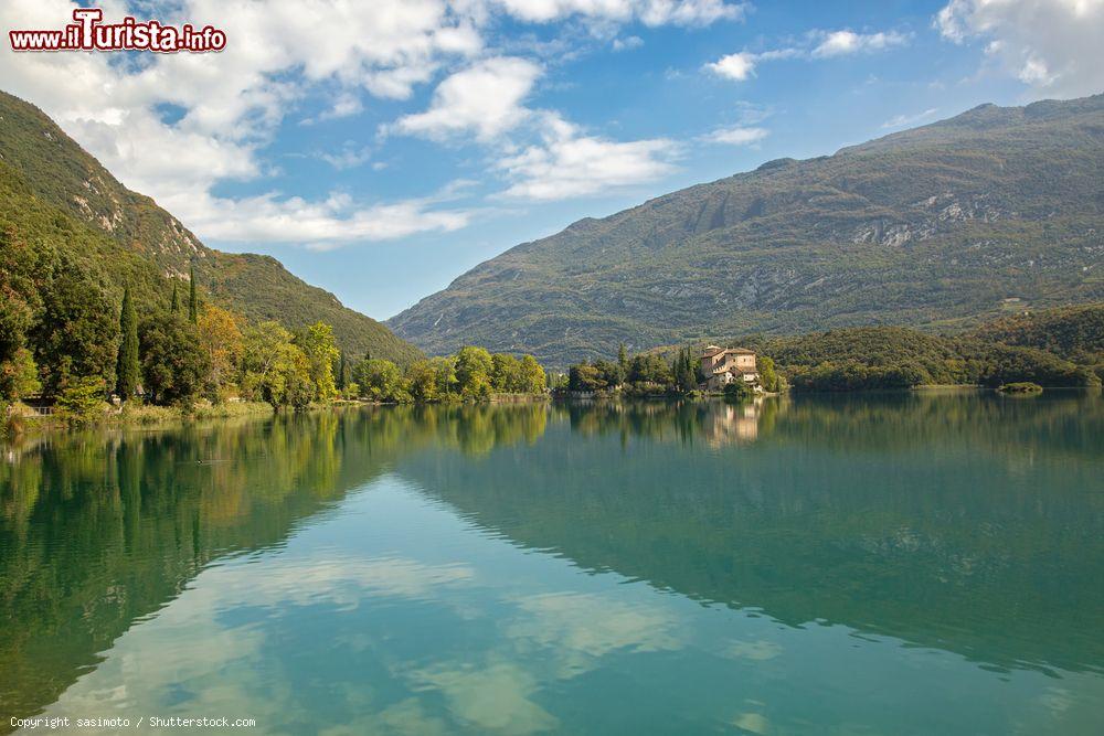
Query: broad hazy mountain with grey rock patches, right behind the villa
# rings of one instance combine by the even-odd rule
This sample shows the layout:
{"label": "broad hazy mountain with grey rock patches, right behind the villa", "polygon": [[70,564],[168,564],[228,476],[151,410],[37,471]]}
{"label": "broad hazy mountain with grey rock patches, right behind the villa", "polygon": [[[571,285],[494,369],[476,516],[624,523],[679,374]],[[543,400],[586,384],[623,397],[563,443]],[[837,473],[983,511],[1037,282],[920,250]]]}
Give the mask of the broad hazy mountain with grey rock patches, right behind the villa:
{"label": "broad hazy mountain with grey rock patches, right behind the villa", "polygon": [[[1104,95],[984,105],[519,245],[392,318],[564,365],[707,334],[966,327],[1104,298]],[[1018,300],[1012,302],[1011,300]]]}

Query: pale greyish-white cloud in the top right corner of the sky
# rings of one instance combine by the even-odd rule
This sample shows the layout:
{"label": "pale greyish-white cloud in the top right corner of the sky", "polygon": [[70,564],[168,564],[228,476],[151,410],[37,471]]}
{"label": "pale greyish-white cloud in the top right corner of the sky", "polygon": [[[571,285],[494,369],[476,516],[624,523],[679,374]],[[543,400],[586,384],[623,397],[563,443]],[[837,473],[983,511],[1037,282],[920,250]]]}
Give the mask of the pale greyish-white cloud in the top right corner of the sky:
{"label": "pale greyish-white cloud in the top right corner of the sky", "polygon": [[1104,90],[1104,0],[952,0],[935,26],[956,43],[986,41],[987,56],[1036,93]]}

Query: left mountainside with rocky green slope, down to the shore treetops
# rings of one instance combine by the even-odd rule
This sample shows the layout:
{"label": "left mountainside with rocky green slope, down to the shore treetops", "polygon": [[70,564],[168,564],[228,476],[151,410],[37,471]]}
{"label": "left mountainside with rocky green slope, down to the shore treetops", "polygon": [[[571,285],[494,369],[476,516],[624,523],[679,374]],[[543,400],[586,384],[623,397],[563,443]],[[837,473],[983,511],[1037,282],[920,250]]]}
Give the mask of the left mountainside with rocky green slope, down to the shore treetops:
{"label": "left mountainside with rocky green slope, down to the shore treetops", "polygon": [[[68,273],[98,285],[117,305],[131,282],[142,305],[168,305],[171,285],[187,291],[194,267],[201,294],[253,322],[333,327],[350,354],[408,363],[416,348],[386,327],[312,287],[269,256],[208,248],[153,200],[119,183],[34,106],[0,93],[0,258],[22,278]],[[32,274],[33,271],[33,274]],[[36,275],[36,276],[34,276]],[[76,275],[70,273],[68,277]],[[106,303],[106,302],[105,302]],[[117,306],[112,307],[117,319]],[[139,308],[139,311],[141,309]],[[0,320],[14,317],[0,314]],[[114,350],[114,346],[112,348]]]}

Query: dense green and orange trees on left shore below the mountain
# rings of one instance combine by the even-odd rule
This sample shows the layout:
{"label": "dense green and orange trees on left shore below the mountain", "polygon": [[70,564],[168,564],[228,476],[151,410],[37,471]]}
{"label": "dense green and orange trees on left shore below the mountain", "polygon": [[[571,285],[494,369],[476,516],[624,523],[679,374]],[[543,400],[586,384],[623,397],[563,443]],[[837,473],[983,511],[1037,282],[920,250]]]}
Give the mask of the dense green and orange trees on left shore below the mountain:
{"label": "dense green and orange trees on left shore below the mountain", "polygon": [[[4,193],[13,191],[0,185],[0,204]],[[50,216],[33,202],[0,213],[0,403],[42,394],[61,415],[89,419],[103,413],[113,390],[123,402],[183,406],[241,396],[301,408],[336,397],[339,353],[330,326],[316,322],[295,334],[276,322],[250,327],[242,316],[203,303],[194,281],[185,313],[177,279],[170,291],[164,279],[79,223]],[[131,267],[124,270],[135,286],[123,290],[121,303],[102,263],[79,257],[97,248]],[[173,295],[176,309],[164,308],[169,299],[158,287]]]}

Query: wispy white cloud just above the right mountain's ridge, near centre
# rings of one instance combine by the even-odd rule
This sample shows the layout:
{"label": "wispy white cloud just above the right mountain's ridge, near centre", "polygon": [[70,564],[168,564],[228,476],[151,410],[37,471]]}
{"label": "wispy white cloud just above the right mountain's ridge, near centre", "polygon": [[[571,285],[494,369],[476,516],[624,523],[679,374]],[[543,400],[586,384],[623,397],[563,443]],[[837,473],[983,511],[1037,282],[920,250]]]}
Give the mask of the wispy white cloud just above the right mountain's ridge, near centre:
{"label": "wispy white cloud just above the right mountain's ridge, near centre", "polygon": [[584,135],[555,114],[542,116],[542,141],[507,156],[498,168],[507,196],[565,200],[654,181],[673,171],[679,147],[665,138],[615,141]]}

